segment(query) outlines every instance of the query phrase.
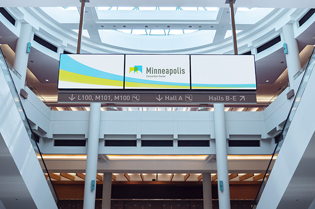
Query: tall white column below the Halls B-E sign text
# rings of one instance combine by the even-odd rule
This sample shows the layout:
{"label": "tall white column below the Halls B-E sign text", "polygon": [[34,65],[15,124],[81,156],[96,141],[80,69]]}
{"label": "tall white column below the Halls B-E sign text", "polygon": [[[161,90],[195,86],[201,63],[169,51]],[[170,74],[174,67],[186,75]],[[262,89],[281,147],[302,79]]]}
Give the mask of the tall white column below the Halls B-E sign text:
{"label": "tall white column below the Halls B-E sign text", "polygon": [[[224,104],[213,104],[213,106],[218,170],[219,209],[231,209]],[[223,191],[220,191],[220,181],[223,181]]]}

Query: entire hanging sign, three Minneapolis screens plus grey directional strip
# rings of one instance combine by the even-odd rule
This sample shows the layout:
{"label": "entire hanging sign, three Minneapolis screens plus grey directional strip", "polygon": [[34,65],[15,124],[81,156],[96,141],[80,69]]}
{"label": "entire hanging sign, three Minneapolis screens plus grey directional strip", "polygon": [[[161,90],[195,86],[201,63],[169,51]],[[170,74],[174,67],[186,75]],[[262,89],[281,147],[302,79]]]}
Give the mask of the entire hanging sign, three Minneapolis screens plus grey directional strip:
{"label": "entire hanging sign, three Minneapolis screens plus grey directional strip", "polygon": [[255,61],[252,55],[62,54],[58,89],[65,103],[256,103]]}

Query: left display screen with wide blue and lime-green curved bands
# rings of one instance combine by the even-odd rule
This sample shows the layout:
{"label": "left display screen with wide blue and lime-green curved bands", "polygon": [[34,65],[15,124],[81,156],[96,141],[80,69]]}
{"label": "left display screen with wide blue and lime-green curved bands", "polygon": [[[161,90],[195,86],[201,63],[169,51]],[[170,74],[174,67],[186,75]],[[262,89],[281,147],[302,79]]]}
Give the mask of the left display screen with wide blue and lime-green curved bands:
{"label": "left display screen with wide blue and lime-green curved bands", "polygon": [[124,89],[125,55],[61,54],[58,89]]}

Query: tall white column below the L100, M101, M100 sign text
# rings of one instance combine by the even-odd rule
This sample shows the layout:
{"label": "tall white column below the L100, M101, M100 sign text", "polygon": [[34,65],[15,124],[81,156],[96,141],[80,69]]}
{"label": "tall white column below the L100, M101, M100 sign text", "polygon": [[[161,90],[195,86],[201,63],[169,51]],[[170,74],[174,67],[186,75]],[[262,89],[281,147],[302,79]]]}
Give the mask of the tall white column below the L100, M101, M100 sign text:
{"label": "tall white column below the L100, M101, M100 sign text", "polygon": [[[87,140],[87,158],[84,183],[83,209],[95,208],[97,155],[99,141],[99,126],[101,119],[101,104],[91,103],[89,136]],[[91,182],[94,180],[95,189],[91,190]]]}

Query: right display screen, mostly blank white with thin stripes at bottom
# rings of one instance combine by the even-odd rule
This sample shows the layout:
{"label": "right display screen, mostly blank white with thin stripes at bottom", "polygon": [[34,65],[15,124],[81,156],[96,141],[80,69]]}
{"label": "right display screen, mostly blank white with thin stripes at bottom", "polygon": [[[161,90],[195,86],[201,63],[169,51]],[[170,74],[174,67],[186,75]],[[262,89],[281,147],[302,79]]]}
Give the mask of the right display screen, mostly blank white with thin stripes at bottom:
{"label": "right display screen, mostly blank white with thin stripes at bottom", "polygon": [[191,89],[256,90],[253,55],[191,55]]}

